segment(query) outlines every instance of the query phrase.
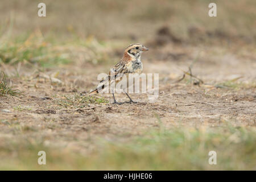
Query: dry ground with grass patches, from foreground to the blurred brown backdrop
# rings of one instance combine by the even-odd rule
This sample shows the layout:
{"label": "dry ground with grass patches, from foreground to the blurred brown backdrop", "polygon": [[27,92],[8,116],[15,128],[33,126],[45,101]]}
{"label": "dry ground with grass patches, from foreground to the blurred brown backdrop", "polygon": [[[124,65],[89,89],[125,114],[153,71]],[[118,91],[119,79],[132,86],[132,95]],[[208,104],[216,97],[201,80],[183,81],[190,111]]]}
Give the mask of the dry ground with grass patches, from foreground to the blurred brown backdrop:
{"label": "dry ground with grass patches, from foreground to the blurred brown backdrop", "polygon": [[[0,168],[255,170],[255,34],[192,28],[186,38],[174,37],[166,24],[155,27],[144,39],[89,36],[57,43],[36,29],[18,50],[36,47],[33,56],[38,45],[48,47],[43,53],[61,57],[49,65],[56,57],[35,53],[19,61],[19,52],[2,49],[0,68],[23,93],[0,97]],[[114,105],[110,94],[84,97],[97,75],[137,41],[150,48],[142,55],[143,72],[159,73],[158,99],[131,94],[138,104]],[[203,84],[188,75],[177,81],[192,63]],[[117,94],[117,100],[127,98]],[[46,166],[37,164],[40,150],[47,152]],[[208,164],[210,150],[220,159],[215,167]]]}

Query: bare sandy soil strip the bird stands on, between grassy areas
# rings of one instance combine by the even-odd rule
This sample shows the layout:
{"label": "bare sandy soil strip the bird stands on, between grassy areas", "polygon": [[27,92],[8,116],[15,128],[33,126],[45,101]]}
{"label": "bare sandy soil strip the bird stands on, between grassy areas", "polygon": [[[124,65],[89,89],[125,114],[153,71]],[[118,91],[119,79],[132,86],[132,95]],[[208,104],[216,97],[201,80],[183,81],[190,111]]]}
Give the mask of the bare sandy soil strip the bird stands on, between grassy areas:
{"label": "bare sandy soil strip the bird stands on, between grassy areas", "polygon": [[[54,146],[88,152],[94,147],[95,138],[127,140],[159,127],[159,119],[167,129],[218,127],[227,121],[234,126],[256,126],[255,52],[240,55],[236,47],[202,48],[173,43],[150,49],[142,55],[144,73],[159,73],[159,98],[148,101],[146,94],[131,94],[138,104],[111,104],[110,94],[97,95],[109,103],[89,103],[81,109],[76,104],[59,104],[67,101],[66,97],[74,100],[76,94],[96,86],[98,73],[107,72],[111,64],[77,63],[46,72],[20,69],[24,76],[11,81],[23,95],[1,98],[1,140],[18,141],[20,138],[15,136],[22,133],[25,138],[44,138],[44,142]],[[183,76],[180,69],[187,71],[196,57],[192,73],[204,84],[196,85],[193,78],[190,83],[189,76],[176,82]],[[56,75],[61,82],[45,75]],[[225,86],[227,82],[229,85]],[[117,100],[127,98],[117,94]]]}

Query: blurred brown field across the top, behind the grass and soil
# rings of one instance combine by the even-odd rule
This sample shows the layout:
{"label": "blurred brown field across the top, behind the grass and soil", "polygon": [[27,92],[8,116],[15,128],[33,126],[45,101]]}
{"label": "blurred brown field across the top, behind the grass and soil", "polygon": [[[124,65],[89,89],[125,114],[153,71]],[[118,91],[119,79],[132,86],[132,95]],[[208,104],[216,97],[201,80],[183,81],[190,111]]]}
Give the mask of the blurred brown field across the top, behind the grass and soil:
{"label": "blurred brown field across the top, behind the grass and soil", "polygon": [[[39,29],[44,36],[63,39],[98,40],[152,38],[161,27],[170,28],[179,39],[191,34],[222,36],[255,42],[255,2],[214,1],[217,18],[208,16],[211,1],[43,1],[47,17],[40,18],[38,4],[42,1],[2,1],[1,29],[13,18],[13,34],[27,35]],[[198,32],[195,32],[195,31]],[[57,32],[57,34],[56,34]],[[195,36],[199,36],[195,35]]]}

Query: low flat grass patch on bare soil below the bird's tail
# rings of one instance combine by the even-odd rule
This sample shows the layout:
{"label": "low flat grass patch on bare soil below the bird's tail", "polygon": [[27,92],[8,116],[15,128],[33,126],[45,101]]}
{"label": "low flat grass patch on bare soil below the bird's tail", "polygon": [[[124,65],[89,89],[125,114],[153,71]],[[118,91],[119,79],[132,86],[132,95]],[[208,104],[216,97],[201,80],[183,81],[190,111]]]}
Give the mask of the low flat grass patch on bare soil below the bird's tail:
{"label": "low flat grass patch on bare soil below the bird's tail", "polygon": [[88,104],[105,104],[108,103],[108,100],[102,97],[95,96],[79,96],[75,94],[73,97],[63,96],[64,99],[57,101],[57,104],[68,108],[84,108],[88,107]]}

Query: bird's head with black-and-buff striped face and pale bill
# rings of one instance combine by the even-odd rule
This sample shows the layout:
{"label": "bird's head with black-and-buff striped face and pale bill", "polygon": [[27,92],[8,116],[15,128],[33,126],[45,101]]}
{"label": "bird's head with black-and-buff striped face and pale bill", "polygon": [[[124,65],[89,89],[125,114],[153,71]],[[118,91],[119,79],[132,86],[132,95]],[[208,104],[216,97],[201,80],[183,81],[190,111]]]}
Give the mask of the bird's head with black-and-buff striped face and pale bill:
{"label": "bird's head with black-and-buff striped face and pale bill", "polygon": [[148,51],[148,48],[143,46],[142,44],[131,44],[125,49],[125,52],[123,53],[123,58],[132,60],[138,60],[141,57],[141,53],[143,51]]}

